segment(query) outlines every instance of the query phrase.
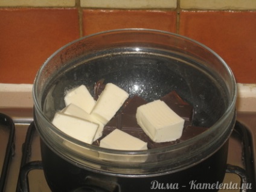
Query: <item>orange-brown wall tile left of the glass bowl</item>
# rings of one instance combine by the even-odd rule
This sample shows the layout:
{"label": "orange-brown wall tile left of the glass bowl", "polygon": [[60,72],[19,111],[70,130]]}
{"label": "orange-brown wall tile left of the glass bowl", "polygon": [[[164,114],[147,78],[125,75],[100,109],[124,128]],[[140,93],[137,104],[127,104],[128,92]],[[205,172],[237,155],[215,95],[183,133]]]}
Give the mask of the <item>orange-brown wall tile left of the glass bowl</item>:
{"label": "orange-brown wall tile left of the glass bowl", "polygon": [[43,62],[79,37],[75,8],[2,8],[0,26],[0,83],[33,83]]}

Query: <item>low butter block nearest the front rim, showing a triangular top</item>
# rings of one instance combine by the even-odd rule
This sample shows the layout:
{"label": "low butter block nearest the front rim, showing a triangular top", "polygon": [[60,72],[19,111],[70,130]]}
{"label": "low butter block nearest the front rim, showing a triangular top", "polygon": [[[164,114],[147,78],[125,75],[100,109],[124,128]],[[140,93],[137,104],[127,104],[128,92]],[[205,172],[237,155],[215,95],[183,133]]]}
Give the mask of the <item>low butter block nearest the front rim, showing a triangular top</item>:
{"label": "low butter block nearest the front rim, showing a triangular top", "polygon": [[100,147],[115,150],[146,150],[147,142],[115,129],[100,141]]}

